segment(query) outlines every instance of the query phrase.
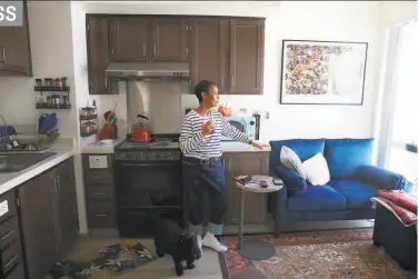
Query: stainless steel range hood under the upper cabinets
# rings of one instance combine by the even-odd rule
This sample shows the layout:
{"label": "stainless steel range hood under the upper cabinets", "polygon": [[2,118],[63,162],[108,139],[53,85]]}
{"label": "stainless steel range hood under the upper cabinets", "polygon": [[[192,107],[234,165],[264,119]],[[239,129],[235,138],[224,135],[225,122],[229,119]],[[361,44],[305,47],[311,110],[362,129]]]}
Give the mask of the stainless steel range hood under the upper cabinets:
{"label": "stainless steel range hood under the upper cabinets", "polygon": [[119,79],[189,79],[188,62],[111,62],[108,78]]}

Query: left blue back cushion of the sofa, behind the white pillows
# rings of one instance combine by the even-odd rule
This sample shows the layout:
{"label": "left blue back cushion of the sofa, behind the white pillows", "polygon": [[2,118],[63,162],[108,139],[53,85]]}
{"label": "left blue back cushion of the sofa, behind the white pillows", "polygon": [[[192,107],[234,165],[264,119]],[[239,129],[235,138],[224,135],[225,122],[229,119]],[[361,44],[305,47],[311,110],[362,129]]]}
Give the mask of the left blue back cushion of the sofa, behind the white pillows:
{"label": "left blue back cushion of the sofa, behind the white pillows", "polygon": [[270,167],[272,169],[275,166],[281,165],[280,151],[282,146],[293,150],[301,161],[305,161],[318,152],[324,153],[324,139],[272,140],[270,141]]}

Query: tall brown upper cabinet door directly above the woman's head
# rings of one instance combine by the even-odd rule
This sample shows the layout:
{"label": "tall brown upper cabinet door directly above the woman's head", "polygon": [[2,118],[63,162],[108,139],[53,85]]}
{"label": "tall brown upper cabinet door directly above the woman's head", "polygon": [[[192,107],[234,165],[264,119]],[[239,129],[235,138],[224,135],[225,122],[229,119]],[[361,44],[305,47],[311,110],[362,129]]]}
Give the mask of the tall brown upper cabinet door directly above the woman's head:
{"label": "tall brown upper cabinet door directly above the woman's head", "polygon": [[190,74],[192,84],[211,80],[220,92],[226,86],[228,20],[195,18],[191,20]]}

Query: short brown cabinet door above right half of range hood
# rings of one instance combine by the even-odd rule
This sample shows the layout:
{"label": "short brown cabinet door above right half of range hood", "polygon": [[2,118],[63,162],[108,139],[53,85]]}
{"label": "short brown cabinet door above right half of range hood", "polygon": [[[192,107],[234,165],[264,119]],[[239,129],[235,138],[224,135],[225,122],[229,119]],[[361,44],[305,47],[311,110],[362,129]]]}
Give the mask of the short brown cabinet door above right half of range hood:
{"label": "short brown cabinet door above right half of range hood", "polygon": [[152,60],[188,61],[188,29],[185,18],[153,18]]}

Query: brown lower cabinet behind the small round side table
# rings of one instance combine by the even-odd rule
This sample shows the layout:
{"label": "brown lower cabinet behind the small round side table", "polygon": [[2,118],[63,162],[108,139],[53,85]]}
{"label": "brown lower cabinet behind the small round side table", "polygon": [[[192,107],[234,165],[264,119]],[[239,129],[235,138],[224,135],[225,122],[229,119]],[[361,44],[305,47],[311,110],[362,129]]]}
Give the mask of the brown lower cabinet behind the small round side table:
{"label": "brown lower cabinet behind the small round side table", "polygon": [[[230,152],[223,155],[223,169],[228,188],[228,211],[226,225],[239,223],[240,191],[237,189],[233,177],[245,175],[269,173],[269,152]],[[267,219],[266,193],[246,192],[245,219],[246,225],[261,225]]]}

